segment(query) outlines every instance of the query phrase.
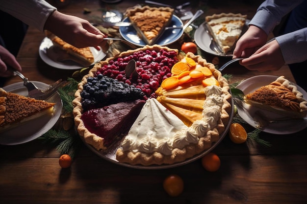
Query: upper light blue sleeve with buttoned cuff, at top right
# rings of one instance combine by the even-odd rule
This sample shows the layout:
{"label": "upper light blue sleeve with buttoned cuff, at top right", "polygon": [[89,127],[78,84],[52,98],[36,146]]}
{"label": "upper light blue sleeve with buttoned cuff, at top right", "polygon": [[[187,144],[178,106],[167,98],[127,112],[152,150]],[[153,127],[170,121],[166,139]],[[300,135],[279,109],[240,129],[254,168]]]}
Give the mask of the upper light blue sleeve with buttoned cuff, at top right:
{"label": "upper light blue sleeve with buttoned cuff, at top right", "polygon": [[249,25],[256,25],[269,34],[281,23],[282,17],[304,0],[265,0],[258,7]]}

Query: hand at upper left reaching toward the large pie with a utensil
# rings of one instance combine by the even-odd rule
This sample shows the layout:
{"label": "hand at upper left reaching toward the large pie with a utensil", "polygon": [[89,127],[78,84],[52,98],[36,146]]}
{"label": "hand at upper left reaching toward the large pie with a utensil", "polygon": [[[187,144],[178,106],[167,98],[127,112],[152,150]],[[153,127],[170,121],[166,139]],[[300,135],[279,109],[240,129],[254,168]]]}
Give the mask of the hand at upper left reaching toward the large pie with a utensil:
{"label": "hand at upper left reaching toward the large pie with a utensil", "polygon": [[100,50],[99,46],[107,43],[103,40],[107,36],[88,21],[58,11],[50,15],[44,29],[78,48],[93,46]]}

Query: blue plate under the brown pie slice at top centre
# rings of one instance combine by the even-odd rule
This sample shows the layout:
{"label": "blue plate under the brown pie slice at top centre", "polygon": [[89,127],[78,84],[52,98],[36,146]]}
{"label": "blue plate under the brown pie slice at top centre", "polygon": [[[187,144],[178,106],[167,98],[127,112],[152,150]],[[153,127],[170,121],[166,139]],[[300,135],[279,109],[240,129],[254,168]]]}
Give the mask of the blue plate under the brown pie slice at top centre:
{"label": "blue plate under the brown pie slice at top centre", "polygon": [[[129,22],[128,18],[125,18],[123,22]],[[182,21],[176,16],[173,15],[172,21],[169,25],[170,27],[172,26],[183,26]],[[122,35],[122,37],[132,43],[133,45],[136,46],[145,46],[147,45],[138,35],[136,30],[132,25],[130,26],[122,26],[119,28],[119,32]],[[162,36],[157,40],[155,44],[165,46],[174,43],[177,41],[183,34],[183,29],[169,29],[165,30]]]}

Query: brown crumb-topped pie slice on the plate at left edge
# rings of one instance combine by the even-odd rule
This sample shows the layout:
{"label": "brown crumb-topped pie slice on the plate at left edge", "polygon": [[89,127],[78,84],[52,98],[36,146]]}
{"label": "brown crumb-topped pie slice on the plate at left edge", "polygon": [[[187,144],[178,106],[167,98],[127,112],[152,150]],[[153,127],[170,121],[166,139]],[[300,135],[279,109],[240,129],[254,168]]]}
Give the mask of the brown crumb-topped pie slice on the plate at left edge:
{"label": "brown crumb-topped pie slice on the plate at left edge", "polygon": [[7,131],[46,114],[52,114],[54,103],[28,98],[0,88],[0,132]]}

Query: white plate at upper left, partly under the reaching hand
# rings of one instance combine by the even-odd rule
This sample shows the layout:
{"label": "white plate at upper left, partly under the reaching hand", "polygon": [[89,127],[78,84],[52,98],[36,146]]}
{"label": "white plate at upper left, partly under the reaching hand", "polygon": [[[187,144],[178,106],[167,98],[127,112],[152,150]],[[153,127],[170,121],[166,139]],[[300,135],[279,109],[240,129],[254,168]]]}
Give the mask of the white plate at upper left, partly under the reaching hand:
{"label": "white plate at upper left, partly under the reaching hand", "polygon": [[[43,39],[43,41],[41,42],[41,45],[39,46],[39,50],[38,50],[39,56],[42,58],[42,60],[46,64],[50,65],[51,67],[60,68],[60,69],[72,69],[73,70],[73,69],[83,68],[83,66],[78,65],[77,63],[70,61],[70,60],[63,61],[63,62],[51,60],[50,57],[48,57],[47,55],[47,49],[49,49],[51,46],[53,46],[52,41],[47,37]],[[102,60],[106,56],[106,53],[104,53],[102,49],[97,50],[94,47],[90,47],[90,49],[94,55],[94,63]]]}

